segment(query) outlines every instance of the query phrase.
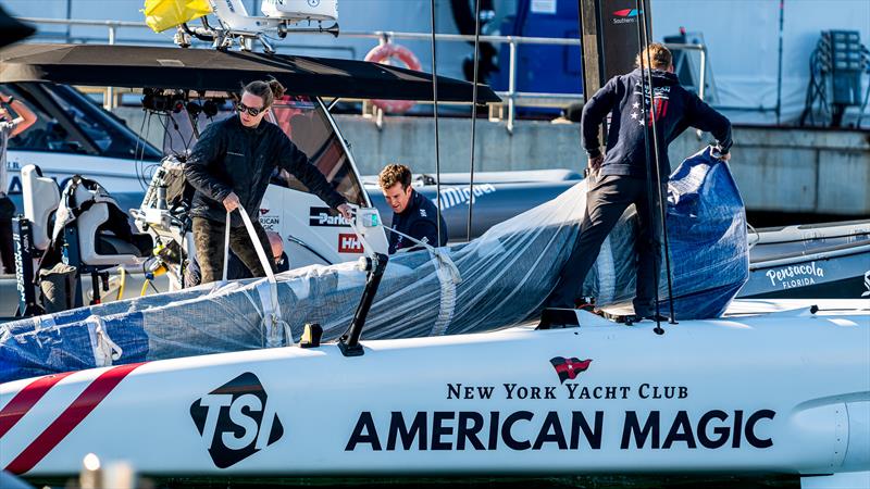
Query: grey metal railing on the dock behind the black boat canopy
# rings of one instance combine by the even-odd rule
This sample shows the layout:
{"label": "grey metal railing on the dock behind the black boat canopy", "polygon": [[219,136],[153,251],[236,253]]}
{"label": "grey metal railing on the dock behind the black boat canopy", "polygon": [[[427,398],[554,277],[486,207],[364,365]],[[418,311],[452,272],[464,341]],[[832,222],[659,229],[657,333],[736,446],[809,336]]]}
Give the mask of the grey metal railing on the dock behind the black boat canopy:
{"label": "grey metal railing on the dock behind the black boat canopy", "polygon": [[[149,28],[144,22],[125,22],[125,21],[76,21],[66,18],[40,18],[40,17],[21,17],[21,21],[32,24],[47,24],[47,25],[65,25],[65,26],[88,26],[88,27],[105,27],[109,29],[108,40],[110,45],[114,45],[117,39],[117,30],[120,28]],[[378,42],[389,42],[395,39],[403,40],[420,40],[428,41],[432,35],[427,33],[397,33],[387,30],[373,30],[373,32],[343,32],[343,38],[361,38],[374,39]],[[435,39],[446,42],[473,42],[474,36],[461,34],[436,34]],[[507,43],[508,45],[508,89],[507,91],[496,91],[496,93],[507,103],[507,129],[513,133],[517,108],[564,108],[570,103],[583,102],[583,93],[546,93],[546,92],[523,92],[517,90],[517,64],[518,64],[518,48],[520,45],[543,45],[543,46],[576,46],[580,48],[580,39],[561,39],[550,37],[520,37],[520,36],[480,36],[481,42]],[[162,42],[160,42],[162,43]],[[682,49],[687,51],[698,51],[699,73],[698,73],[698,97],[704,100],[705,86],[707,85],[707,48],[704,45],[687,45],[687,43],[668,43],[666,45],[671,49]],[[306,49],[308,49],[306,47]],[[338,49],[338,48],[337,48]],[[109,88],[108,99],[114,100],[111,88]],[[439,102],[442,103],[442,102]],[[490,108],[490,114],[493,114]]]}

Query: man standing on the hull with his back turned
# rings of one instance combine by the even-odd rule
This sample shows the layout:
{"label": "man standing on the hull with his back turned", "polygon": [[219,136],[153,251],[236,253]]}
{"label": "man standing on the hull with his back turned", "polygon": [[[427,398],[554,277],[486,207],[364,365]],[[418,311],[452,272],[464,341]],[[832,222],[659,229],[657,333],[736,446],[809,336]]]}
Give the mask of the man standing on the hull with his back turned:
{"label": "man standing on the hull with his back turned", "polygon": [[[649,60],[649,62],[647,62]],[[652,66],[652,97],[647,78],[647,64]],[[548,300],[551,308],[574,308],[586,274],[595,264],[610,230],[625,209],[637,210],[637,292],[634,312],[639,318],[654,318],[656,276],[660,269],[661,214],[658,205],[650,209],[648,181],[655,173],[651,156],[652,117],[658,143],[659,185],[667,190],[671,173],[668,145],[686,128],[710,131],[719,145],[722,160],[729,160],[731,123],[680,86],[673,74],[671,52],[663,45],[651,43],[637,55],[637,70],[613,77],[583,108],[581,129],[588,154],[589,178],[586,213],[559,284]],[[598,128],[610,114],[607,150],[602,153]],[[648,148],[648,153],[647,153]],[[651,159],[650,159],[651,160]],[[648,180],[649,179],[649,180]],[[663,196],[666,193],[662,193]]]}

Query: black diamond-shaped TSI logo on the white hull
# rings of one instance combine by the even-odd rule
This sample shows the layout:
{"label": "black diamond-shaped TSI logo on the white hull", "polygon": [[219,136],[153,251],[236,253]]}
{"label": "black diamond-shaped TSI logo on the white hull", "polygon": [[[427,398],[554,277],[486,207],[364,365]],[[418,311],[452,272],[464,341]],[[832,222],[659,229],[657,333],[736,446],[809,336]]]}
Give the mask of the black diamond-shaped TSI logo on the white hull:
{"label": "black diamond-shaped TSI logo on the white hull", "polygon": [[250,372],[194,402],[190,417],[217,468],[233,466],[284,436],[263,385]]}

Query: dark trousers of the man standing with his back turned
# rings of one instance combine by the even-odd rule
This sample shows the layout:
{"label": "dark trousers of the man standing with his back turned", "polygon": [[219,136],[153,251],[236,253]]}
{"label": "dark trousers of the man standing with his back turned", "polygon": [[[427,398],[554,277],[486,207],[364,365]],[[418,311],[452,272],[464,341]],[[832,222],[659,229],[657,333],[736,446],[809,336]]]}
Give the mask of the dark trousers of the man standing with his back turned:
{"label": "dark trousers of the man standing with his back turned", "polygon": [[586,274],[598,258],[601,243],[625,209],[634,204],[639,224],[635,241],[637,291],[633,301],[634,311],[643,316],[655,313],[656,280],[661,266],[661,214],[658,205],[655,205],[655,215],[650,216],[647,189],[647,183],[642,178],[607,175],[586,192],[586,213],[580,227],[580,237],[559,275],[559,284],[548,300],[548,306],[574,306]]}

